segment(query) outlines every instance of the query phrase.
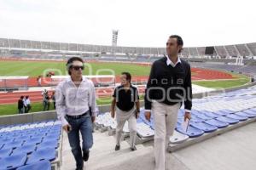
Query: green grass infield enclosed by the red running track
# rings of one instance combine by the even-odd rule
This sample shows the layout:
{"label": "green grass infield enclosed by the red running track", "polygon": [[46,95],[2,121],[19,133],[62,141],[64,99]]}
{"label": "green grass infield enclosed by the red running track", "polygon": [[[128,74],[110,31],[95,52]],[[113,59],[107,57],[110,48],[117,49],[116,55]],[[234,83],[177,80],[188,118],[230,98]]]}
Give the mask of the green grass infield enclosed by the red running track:
{"label": "green grass infield enclosed by the red running track", "polygon": [[[55,75],[67,75],[64,62],[0,60],[0,76],[38,77],[38,75],[44,75],[44,72],[49,71],[54,71]],[[84,75],[96,75],[96,73],[97,75],[120,75],[123,71],[129,71],[131,75],[148,76],[150,66],[124,63],[85,63]]]}

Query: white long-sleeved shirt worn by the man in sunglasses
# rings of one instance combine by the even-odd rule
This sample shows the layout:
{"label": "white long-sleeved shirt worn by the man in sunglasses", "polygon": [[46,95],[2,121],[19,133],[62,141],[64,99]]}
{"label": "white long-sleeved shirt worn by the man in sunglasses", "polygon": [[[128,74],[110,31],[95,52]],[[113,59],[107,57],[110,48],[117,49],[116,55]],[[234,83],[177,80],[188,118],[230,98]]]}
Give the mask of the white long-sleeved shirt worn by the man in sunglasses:
{"label": "white long-sleeved shirt worn by the man in sunglasses", "polygon": [[92,111],[92,116],[96,116],[96,92],[91,80],[83,77],[79,87],[72,81],[71,77],[60,82],[55,89],[55,105],[58,119],[62,126],[68,124],[66,115],[79,116]]}

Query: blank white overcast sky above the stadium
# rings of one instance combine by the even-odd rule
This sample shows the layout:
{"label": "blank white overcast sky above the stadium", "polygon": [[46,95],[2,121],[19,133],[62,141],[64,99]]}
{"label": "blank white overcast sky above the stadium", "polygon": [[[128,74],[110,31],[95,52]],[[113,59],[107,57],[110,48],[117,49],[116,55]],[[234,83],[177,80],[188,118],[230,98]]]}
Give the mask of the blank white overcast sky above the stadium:
{"label": "blank white overcast sky above the stadium", "polygon": [[0,37],[119,46],[256,42],[255,0],[0,0]]}

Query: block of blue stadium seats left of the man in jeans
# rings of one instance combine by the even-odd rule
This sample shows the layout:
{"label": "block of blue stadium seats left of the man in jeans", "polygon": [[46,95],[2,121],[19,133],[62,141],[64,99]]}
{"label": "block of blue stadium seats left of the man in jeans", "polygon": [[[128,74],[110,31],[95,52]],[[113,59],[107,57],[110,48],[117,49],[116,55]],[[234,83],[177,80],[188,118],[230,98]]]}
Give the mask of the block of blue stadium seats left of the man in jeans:
{"label": "block of blue stadium seats left of the man in jeans", "polygon": [[60,147],[59,121],[0,127],[0,169],[49,170],[59,161]]}

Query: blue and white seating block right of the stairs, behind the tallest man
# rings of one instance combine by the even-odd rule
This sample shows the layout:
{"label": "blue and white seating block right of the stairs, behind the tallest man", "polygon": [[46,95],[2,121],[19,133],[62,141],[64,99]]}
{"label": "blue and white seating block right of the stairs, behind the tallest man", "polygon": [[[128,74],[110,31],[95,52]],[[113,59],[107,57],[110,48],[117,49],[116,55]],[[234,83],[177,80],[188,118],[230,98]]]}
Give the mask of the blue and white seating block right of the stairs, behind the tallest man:
{"label": "blue and white seating block right of the stairs, behind the tallest man", "polygon": [[[241,122],[256,118],[256,86],[233,92],[209,96],[203,99],[193,99],[192,118],[188,131],[183,129],[183,108],[178,112],[176,131],[170,139],[171,144],[183,143],[187,139],[198,138],[204,133],[212,133]],[[113,130],[115,120],[110,113],[100,114],[96,125],[102,129]],[[124,127],[125,135],[129,134],[128,124]],[[141,139],[154,137],[154,118],[148,122],[142,108],[137,119],[137,135]],[[148,140],[145,140],[148,141]]]}

